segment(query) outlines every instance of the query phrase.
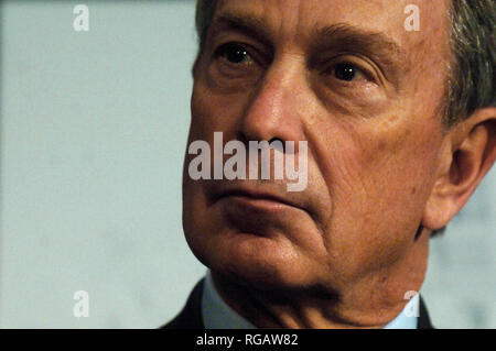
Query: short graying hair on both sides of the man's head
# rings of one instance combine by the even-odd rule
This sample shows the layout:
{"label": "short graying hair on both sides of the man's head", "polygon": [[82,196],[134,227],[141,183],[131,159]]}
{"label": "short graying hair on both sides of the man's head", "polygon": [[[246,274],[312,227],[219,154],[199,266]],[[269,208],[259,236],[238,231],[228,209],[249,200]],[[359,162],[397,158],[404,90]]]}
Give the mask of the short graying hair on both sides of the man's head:
{"label": "short graying hair on both sides of the man's head", "polygon": [[[444,122],[452,127],[484,107],[496,107],[496,2],[452,0],[451,47]],[[217,0],[197,0],[200,50],[207,39]]]}

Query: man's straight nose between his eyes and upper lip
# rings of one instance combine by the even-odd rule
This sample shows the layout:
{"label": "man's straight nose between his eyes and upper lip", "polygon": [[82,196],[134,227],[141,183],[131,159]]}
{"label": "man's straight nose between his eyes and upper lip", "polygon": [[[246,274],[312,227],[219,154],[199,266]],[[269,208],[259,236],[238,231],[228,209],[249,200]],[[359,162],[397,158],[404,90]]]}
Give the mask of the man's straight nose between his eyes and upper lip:
{"label": "man's straight nose between his eyes and upper lip", "polygon": [[239,140],[282,142],[305,140],[309,112],[304,67],[298,61],[273,62],[248,99],[239,121]]}

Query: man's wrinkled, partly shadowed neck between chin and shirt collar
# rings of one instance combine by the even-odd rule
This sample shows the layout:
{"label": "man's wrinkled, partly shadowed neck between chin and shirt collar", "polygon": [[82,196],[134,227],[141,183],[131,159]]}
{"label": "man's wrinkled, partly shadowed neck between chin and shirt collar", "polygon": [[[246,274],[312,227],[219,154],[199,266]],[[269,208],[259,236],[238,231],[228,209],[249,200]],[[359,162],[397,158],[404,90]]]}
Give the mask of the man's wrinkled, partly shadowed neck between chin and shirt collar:
{"label": "man's wrinkled, partly shadowed neck between chin and shirt collar", "polygon": [[262,289],[219,272],[212,277],[222,298],[258,328],[384,328],[405,308],[407,292],[419,292],[424,279],[429,235],[414,246],[388,268],[339,288]]}

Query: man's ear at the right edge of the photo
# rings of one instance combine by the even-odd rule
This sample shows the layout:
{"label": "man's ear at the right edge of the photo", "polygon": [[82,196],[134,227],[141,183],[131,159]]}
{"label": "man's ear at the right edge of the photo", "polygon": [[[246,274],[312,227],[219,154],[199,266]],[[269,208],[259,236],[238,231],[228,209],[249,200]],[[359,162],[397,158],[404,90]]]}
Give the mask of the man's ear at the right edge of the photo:
{"label": "man's ear at the right edge of the photo", "polygon": [[496,108],[484,108],[452,127],[445,135],[440,167],[422,224],[445,227],[468,201],[496,160]]}

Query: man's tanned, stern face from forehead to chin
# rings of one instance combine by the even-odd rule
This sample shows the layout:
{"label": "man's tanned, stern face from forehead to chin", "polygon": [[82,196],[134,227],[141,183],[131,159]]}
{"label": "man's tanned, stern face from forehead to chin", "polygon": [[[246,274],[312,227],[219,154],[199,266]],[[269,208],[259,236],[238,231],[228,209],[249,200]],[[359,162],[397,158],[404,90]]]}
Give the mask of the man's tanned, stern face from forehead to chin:
{"label": "man's tanned, stern face from forehead to chin", "polygon": [[[420,31],[405,28],[410,3]],[[410,255],[441,163],[446,9],[219,1],[194,69],[188,142],[306,141],[309,180],[300,193],[283,180],[192,180],[187,155],[183,224],[202,262],[260,287],[339,290]]]}

